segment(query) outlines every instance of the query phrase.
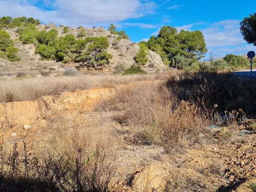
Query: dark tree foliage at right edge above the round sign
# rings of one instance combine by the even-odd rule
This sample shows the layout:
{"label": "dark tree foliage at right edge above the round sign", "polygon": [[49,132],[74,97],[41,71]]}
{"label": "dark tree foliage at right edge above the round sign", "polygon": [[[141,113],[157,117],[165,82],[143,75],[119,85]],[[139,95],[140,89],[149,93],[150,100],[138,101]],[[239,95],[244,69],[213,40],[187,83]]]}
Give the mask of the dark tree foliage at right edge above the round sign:
{"label": "dark tree foliage at right edge above the round sign", "polygon": [[240,31],[247,43],[256,46],[256,13],[241,21]]}

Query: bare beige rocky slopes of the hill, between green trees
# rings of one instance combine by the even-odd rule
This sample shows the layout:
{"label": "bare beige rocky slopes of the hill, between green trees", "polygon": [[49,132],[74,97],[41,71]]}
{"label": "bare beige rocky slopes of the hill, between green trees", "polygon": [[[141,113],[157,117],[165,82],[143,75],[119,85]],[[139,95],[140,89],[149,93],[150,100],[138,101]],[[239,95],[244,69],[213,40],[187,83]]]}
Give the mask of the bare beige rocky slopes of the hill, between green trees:
{"label": "bare beige rocky slopes of the hill, between green trees", "polygon": [[[58,37],[73,34],[76,38],[79,37],[79,32],[83,29],[84,36],[79,38],[87,37],[107,37],[109,47],[107,49],[108,53],[113,55],[113,58],[109,60],[109,64],[104,65],[101,70],[108,73],[114,73],[115,67],[121,66],[121,71],[131,67],[132,64],[135,64],[135,55],[140,50],[140,46],[136,43],[133,43],[126,39],[121,39],[115,41],[119,35],[111,34],[110,31],[107,31],[103,28],[68,28],[68,32],[64,33],[64,26],[57,27],[53,24],[49,25],[38,25],[36,26],[39,31],[49,32],[51,29],[56,29],[58,31]],[[63,73],[65,67],[76,67],[79,66],[79,63],[69,62],[63,64],[54,60],[43,60],[41,56],[35,54],[35,44],[22,44],[19,39],[19,34],[16,28],[4,28],[10,34],[11,39],[14,42],[14,46],[19,49],[18,54],[20,55],[20,61],[9,61],[6,58],[0,58],[0,75],[1,76],[16,76],[18,73],[33,75],[33,76],[44,76],[48,74],[50,76],[56,76],[60,73]],[[163,61],[160,55],[147,51],[148,61],[145,65],[142,66],[143,70],[148,73],[161,72],[166,70],[166,66],[163,64]],[[93,69],[88,69],[93,70]],[[83,70],[87,71],[87,70]],[[119,70],[120,73],[120,70]]]}

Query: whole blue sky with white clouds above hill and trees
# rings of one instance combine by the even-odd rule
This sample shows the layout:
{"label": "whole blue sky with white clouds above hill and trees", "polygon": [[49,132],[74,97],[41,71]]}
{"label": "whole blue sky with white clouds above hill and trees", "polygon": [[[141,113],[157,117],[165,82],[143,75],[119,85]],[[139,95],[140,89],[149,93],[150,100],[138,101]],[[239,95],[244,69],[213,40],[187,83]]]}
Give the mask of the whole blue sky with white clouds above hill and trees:
{"label": "whole blue sky with white clouds above hill and trees", "polygon": [[[35,17],[43,23],[77,27],[114,23],[131,41],[147,40],[162,26],[201,30],[216,57],[246,54],[239,22],[256,12],[249,0],[0,0],[0,16]],[[208,58],[209,52],[206,56]]]}

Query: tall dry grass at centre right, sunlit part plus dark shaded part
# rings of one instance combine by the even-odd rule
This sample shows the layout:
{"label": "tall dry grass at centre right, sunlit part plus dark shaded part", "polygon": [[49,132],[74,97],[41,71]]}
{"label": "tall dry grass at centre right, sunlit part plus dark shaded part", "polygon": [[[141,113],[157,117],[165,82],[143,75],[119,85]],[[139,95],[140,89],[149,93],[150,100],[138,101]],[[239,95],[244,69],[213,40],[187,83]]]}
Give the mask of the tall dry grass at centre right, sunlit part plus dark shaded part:
{"label": "tall dry grass at centre right, sunlit part plus dark shaded part", "polygon": [[227,123],[221,116],[228,112],[236,114],[232,120],[244,116],[241,109],[255,112],[256,81],[249,81],[222,73],[171,74],[166,81],[123,86],[99,109],[117,112],[113,118],[130,127],[134,143],[168,151],[207,139],[209,126]]}

